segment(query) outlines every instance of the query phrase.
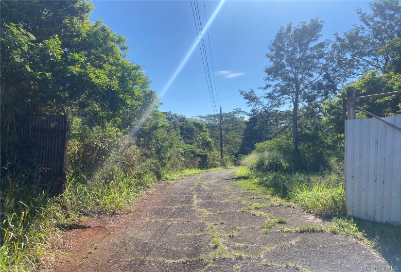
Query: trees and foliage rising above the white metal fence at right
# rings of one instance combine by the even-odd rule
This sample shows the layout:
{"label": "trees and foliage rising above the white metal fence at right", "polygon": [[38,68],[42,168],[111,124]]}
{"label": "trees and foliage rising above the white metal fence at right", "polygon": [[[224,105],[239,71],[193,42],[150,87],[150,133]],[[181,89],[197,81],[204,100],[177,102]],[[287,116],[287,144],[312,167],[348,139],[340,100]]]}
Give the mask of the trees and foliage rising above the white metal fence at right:
{"label": "trees and foliage rising above the white metal fence at right", "polygon": [[[401,5],[400,1],[377,0],[368,4],[370,13],[357,9],[360,25],[336,34],[333,48],[343,55],[344,68],[356,95],[370,95],[400,90],[401,73]],[[378,116],[397,114],[400,95],[356,101]]]}

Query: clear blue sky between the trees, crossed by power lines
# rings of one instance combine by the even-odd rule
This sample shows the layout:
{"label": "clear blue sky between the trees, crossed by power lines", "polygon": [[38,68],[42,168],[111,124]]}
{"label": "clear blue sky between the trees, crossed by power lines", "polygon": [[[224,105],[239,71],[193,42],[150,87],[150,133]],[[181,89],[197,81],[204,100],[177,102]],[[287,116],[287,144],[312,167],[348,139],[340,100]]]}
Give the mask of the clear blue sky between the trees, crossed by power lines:
{"label": "clear blue sky between the trees, crossed by power lines", "polygon": [[[269,65],[264,55],[280,26],[320,17],[326,22],[323,38],[333,39],[334,32],[342,34],[359,24],[355,9],[361,7],[368,12],[368,2],[225,1],[209,26],[217,96],[223,112],[250,110],[238,90],[256,90],[264,85],[263,68]],[[205,26],[203,1],[198,0],[198,4]],[[205,1],[208,20],[219,4],[220,1]],[[127,59],[143,66],[152,89],[161,96],[161,111],[187,117],[213,114],[198,45],[166,89],[197,40],[190,1],[95,0],[93,5],[91,20],[101,18],[128,39]]]}

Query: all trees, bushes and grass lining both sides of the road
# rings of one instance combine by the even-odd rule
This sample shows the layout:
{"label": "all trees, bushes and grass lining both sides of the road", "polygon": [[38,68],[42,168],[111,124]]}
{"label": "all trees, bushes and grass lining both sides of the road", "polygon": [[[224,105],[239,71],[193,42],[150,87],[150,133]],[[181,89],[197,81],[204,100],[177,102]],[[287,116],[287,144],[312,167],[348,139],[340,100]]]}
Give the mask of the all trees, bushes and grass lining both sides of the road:
{"label": "all trees, bushes and grass lining both sides of the road", "polygon": [[[160,112],[150,79],[125,58],[125,38],[89,20],[93,3],[0,4],[1,271],[34,270],[52,254],[51,234],[85,216],[129,209],[161,181],[239,163],[244,186],[323,218],[325,231],[364,240],[401,267],[401,226],[346,215],[341,100],[347,86],[357,96],[400,90],[399,1],[357,10],[360,25],[333,41],[320,39],[319,18],[281,27],[268,45],[262,95],[240,91],[252,110],[223,114],[223,161],[218,116]],[[400,102],[393,95],[356,103],[388,117],[400,115]],[[48,186],[47,169],[32,153],[43,143],[31,139],[26,122],[50,114],[68,117],[61,190]],[[285,221],[269,220],[266,232]]]}

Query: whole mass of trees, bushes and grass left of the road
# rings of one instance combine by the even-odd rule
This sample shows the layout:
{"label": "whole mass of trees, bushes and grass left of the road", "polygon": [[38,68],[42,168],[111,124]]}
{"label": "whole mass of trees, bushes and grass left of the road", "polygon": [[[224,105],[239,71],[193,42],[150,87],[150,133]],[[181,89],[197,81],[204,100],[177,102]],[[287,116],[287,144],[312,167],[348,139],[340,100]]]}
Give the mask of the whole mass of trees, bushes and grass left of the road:
{"label": "whole mass of trees, bushes and grass left of the road", "polygon": [[[199,120],[155,109],[131,133],[158,98],[142,67],[124,59],[125,38],[89,21],[91,3],[0,4],[1,270],[33,269],[54,229],[129,208],[186,168],[220,164]],[[68,116],[67,183],[59,196],[30,156],[29,103],[35,114]]]}

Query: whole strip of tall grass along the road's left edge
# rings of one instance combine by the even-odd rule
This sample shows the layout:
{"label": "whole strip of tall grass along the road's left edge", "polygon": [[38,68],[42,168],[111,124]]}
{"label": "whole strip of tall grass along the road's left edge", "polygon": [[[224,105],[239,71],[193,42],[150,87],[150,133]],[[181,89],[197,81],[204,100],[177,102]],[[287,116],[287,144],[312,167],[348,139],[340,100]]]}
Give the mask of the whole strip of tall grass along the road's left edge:
{"label": "whole strip of tall grass along the road's left edge", "polygon": [[[40,186],[40,175],[29,169],[4,173],[1,177],[0,271],[32,271],[49,237],[83,216],[105,215],[132,207],[138,197],[160,179],[174,180],[207,170],[154,169],[153,160],[141,156],[135,145],[122,147],[90,179],[82,170],[69,169],[65,190],[50,196]],[[215,170],[215,169],[213,169]]]}

